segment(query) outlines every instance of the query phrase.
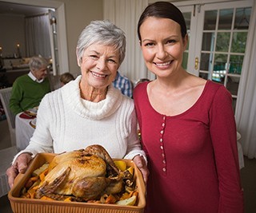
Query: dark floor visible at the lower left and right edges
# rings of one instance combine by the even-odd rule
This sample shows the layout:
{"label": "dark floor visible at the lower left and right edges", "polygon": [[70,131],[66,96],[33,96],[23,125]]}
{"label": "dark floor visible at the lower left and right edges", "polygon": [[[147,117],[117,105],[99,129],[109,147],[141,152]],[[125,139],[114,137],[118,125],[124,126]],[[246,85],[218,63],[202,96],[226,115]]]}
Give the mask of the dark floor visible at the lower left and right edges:
{"label": "dark floor visible at the lower left and right edges", "polygon": [[[6,120],[0,121],[0,149],[10,147],[10,136]],[[244,189],[245,213],[256,212],[256,159],[246,156],[245,168],[241,169],[242,187]],[[0,198],[0,212],[13,213],[7,195]]]}

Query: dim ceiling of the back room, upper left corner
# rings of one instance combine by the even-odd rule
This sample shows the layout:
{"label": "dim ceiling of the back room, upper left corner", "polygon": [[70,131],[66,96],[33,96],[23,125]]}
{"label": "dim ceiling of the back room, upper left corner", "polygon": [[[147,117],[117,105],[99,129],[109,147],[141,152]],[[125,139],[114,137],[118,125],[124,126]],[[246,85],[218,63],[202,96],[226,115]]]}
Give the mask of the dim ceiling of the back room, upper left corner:
{"label": "dim ceiling of the back room, upper left corner", "polygon": [[48,9],[49,8],[40,6],[26,6],[10,2],[0,2],[0,14],[31,16],[47,13]]}

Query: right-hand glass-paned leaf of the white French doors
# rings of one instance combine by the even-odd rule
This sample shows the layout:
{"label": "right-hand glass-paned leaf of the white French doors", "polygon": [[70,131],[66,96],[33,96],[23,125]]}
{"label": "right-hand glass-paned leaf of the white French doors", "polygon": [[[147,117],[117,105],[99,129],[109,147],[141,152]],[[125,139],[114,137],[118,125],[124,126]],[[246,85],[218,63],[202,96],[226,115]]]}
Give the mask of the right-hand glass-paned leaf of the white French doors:
{"label": "right-hand glass-paned leaf of the white French doors", "polygon": [[201,8],[204,22],[199,77],[225,85],[235,105],[251,7],[240,2],[240,5],[220,3]]}

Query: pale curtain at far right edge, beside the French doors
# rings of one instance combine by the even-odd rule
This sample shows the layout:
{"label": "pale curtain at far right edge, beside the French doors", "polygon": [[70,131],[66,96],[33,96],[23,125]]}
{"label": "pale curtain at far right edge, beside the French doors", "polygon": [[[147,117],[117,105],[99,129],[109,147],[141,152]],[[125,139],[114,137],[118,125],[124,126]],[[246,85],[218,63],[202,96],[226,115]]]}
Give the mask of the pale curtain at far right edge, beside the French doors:
{"label": "pale curtain at far right edge, beside the French doors", "polygon": [[246,56],[238,89],[236,122],[241,133],[242,149],[248,158],[256,158],[256,2],[251,11]]}

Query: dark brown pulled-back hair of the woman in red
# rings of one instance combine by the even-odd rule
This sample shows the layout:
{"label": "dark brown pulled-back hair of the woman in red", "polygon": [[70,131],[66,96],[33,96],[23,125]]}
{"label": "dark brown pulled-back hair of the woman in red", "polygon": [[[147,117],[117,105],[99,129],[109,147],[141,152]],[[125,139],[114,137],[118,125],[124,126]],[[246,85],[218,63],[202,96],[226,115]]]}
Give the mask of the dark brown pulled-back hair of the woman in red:
{"label": "dark brown pulled-back hair of the woman in red", "polygon": [[139,29],[148,17],[170,18],[181,26],[182,37],[186,36],[186,22],[182,12],[170,2],[154,2],[146,7],[138,20],[137,33],[139,41],[142,40]]}

